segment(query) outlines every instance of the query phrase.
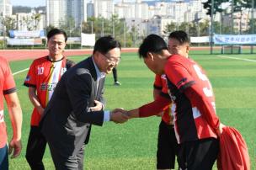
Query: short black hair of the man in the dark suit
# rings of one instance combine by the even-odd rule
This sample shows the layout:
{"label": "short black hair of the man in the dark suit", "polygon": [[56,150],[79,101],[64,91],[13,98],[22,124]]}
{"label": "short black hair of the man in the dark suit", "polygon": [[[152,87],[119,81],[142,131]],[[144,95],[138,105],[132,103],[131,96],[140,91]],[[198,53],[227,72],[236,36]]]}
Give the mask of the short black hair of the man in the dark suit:
{"label": "short black hair of the man in the dark suit", "polygon": [[112,37],[111,35],[107,35],[104,37],[100,37],[99,40],[96,41],[93,48],[93,54],[96,51],[99,51],[102,54],[106,54],[109,52],[109,50],[112,50],[115,48],[120,48],[121,50],[120,42],[118,40],[115,40],[115,38]]}

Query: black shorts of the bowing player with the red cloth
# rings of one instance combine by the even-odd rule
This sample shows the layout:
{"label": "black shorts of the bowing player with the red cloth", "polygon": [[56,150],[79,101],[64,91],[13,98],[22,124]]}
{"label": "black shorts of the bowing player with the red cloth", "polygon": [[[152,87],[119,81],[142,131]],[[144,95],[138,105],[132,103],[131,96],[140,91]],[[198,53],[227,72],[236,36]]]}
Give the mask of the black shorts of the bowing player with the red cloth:
{"label": "black shorts of the bowing player with the red cloth", "polygon": [[219,141],[215,138],[184,142],[179,145],[179,167],[188,170],[211,170],[218,153]]}

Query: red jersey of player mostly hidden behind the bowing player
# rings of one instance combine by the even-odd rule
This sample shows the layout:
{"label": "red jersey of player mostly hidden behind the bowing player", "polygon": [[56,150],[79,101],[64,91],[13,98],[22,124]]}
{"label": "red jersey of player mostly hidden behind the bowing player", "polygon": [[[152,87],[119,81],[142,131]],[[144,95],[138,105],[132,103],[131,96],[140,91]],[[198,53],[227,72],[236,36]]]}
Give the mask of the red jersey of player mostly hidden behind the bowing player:
{"label": "red jersey of player mostly hidden behind the bowing player", "polygon": [[[168,87],[167,87],[167,79],[166,75],[163,74],[162,76],[156,75],[155,77],[155,82],[154,82],[154,88],[161,90],[161,94],[163,96],[168,95]],[[165,109],[163,112],[162,120],[167,124],[167,125],[172,125],[173,124],[173,119],[171,116],[172,113],[172,104],[170,104],[170,107],[168,109]]]}

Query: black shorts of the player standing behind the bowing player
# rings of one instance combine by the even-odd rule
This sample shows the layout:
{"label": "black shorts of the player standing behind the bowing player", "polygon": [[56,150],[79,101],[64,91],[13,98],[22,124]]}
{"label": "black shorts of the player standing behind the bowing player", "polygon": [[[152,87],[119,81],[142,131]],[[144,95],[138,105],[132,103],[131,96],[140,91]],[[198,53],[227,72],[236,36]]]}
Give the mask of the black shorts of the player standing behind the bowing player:
{"label": "black shorts of the player standing behind the bowing player", "polygon": [[157,143],[157,169],[173,169],[178,143],[173,125],[161,121]]}

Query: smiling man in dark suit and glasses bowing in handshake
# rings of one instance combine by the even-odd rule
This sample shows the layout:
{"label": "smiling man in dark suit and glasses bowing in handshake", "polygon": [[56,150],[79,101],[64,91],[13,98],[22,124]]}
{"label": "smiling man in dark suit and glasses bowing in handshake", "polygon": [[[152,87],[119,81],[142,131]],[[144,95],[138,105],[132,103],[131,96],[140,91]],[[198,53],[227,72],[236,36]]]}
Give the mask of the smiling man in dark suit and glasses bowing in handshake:
{"label": "smiling man in dark suit and glasses bowing in handshake", "polygon": [[104,77],[120,61],[120,43],[111,36],[96,41],[93,56],[77,63],[58,82],[40,126],[56,169],[83,169],[84,144],[91,125],[124,123],[125,114],[104,111]]}

